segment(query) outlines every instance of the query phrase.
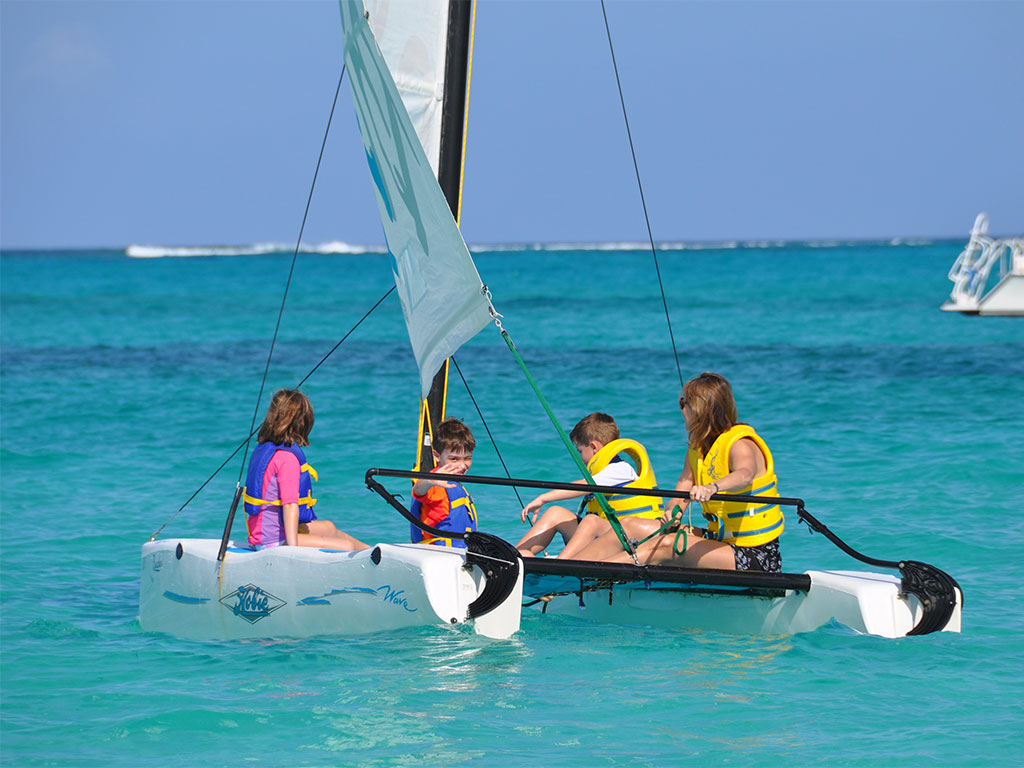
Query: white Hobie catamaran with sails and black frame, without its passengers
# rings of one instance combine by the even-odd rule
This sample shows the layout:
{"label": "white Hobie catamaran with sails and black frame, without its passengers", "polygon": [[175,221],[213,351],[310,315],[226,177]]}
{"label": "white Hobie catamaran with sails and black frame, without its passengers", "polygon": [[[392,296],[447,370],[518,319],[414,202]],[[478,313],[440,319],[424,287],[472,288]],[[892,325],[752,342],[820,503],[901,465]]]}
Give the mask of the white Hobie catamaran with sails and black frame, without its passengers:
{"label": "white Hobie catamaran with sails and black frame, without its passengers", "polygon": [[[472,6],[459,0],[367,0],[366,5],[341,0],[341,15],[345,68],[420,370],[418,467],[429,468],[430,435],[443,418],[446,359],[495,322],[525,371],[457,223]],[[360,552],[256,551],[229,541],[237,495],[222,540],[156,541],[155,535],[143,545],[142,629],[232,639],[468,624],[478,634],[507,638],[518,631],[526,605],[599,621],[744,634],[807,632],[833,621],[884,637],[959,630],[963,594],[950,577],[925,563],[874,560],[854,552],[799,499],[772,502],[795,507],[801,519],[851,556],[900,575],[759,573],[554,558],[524,562],[498,537],[424,526],[377,479],[424,475],[375,468],[366,479],[412,522],[433,535],[463,538],[466,549],[378,544]],[[431,476],[470,484],[564,487],[526,479]],[[591,489],[598,499],[602,492],[626,490]],[[629,493],[686,498],[664,489]],[[587,610],[581,612],[581,606]]]}

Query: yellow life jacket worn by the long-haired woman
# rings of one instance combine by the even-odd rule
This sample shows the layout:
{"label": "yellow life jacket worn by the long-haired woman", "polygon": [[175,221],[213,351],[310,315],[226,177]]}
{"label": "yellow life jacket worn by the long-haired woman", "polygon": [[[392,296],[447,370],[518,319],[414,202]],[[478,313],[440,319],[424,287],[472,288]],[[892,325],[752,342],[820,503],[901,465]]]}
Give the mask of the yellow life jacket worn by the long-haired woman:
{"label": "yellow life jacket worn by the long-haired woman", "polygon": [[[700,456],[695,447],[686,453],[686,462],[697,485],[707,485],[725,477],[729,468],[729,451],[736,440],[749,438],[757,443],[765,457],[765,473],[755,477],[743,488],[732,488],[729,494],[746,496],[778,496],[775,479],[775,465],[771,452],[754,428],[746,424],[736,424],[720,434],[708,452]],[[703,515],[711,522],[708,532],[719,541],[738,547],[758,547],[779,537],[785,519],[777,504],[746,504],[741,502],[710,501],[703,503]]]}

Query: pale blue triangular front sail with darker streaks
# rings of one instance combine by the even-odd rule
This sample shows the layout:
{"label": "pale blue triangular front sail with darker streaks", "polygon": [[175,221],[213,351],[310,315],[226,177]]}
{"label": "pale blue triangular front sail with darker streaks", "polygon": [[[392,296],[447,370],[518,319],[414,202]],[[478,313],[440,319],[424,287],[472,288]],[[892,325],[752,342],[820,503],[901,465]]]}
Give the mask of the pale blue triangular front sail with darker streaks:
{"label": "pale blue triangular front sail with darker streaks", "polygon": [[341,16],[352,100],[425,396],[444,359],[490,321],[490,302],[361,0],[342,0]]}

